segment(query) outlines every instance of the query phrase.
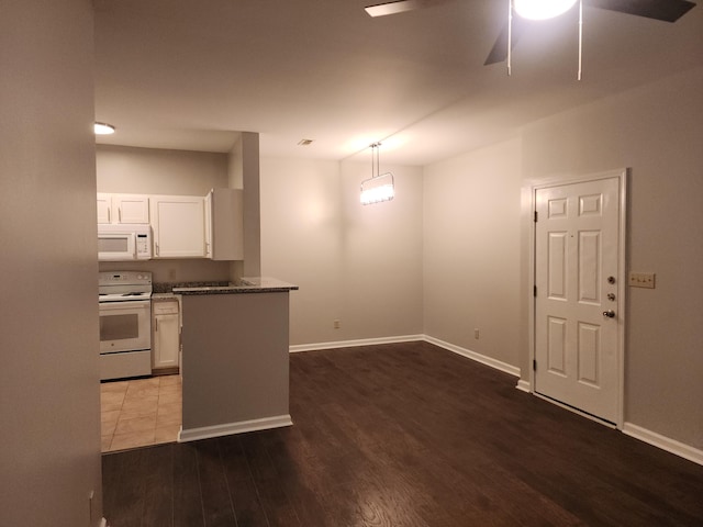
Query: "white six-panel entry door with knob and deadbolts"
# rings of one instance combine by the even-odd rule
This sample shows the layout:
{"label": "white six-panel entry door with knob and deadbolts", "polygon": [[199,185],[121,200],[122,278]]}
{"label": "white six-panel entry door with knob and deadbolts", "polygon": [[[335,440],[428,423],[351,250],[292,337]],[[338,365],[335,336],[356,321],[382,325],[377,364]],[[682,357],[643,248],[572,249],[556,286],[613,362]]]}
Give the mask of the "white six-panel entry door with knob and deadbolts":
{"label": "white six-panel entry door with knob and deadbolts", "polygon": [[617,422],[620,179],[536,191],[537,393]]}

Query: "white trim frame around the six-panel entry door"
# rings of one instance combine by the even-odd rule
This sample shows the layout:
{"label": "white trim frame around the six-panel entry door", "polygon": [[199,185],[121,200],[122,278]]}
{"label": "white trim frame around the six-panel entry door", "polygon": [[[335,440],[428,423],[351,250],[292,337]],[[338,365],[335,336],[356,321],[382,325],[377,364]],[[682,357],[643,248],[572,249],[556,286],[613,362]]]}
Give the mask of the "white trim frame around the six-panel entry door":
{"label": "white trim frame around the six-panel entry door", "polygon": [[617,179],[618,181],[618,194],[620,194],[620,213],[618,213],[618,250],[617,250],[617,298],[618,298],[618,314],[617,314],[617,417],[615,421],[615,427],[618,430],[623,429],[624,425],[624,413],[625,413],[625,345],[626,345],[626,323],[627,323],[627,181],[629,179],[629,169],[622,168],[616,170],[609,170],[605,172],[598,172],[587,176],[566,176],[562,178],[549,178],[542,180],[537,183],[534,183],[529,187],[531,194],[531,211],[529,211],[529,258],[528,258],[528,281],[529,281],[529,290],[528,290],[528,339],[529,339],[529,363],[528,363],[528,382],[529,382],[529,393],[536,395],[545,401],[549,401],[550,403],[562,406],[571,412],[576,412],[579,415],[593,419],[598,423],[602,423],[606,426],[612,426],[610,422],[600,419],[591,414],[579,411],[572,406],[567,404],[559,403],[550,397],[546,397],[535,392],[535,370],[533,365],[535,363],[536,356],[536,298],[534,295],[534,288],[536,284],[537,278],[537,266],[536,266],[536,223],[534,221],[535,213],[537,211],[537,191],[543,189],[549,189],[553,187],[563,187],[574,183],[585,183],[590,181],[598,181],[602,179]]}

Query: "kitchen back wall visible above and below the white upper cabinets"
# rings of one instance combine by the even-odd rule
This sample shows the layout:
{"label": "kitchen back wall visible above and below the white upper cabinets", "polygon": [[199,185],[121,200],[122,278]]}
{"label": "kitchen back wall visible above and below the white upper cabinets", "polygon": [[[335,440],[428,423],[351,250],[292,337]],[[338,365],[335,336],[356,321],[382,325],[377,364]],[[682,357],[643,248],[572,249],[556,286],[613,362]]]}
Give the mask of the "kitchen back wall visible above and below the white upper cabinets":
{"label": "kitchen back wall visible above and below the white upper cabinets", "polygon": [[[204,197],[228,187],[227,154],[98,145],[96,166],[98,192]],[[227,281],[230,268],[205,259],[100,262],[101,271],[152,271],[155,282]]]}

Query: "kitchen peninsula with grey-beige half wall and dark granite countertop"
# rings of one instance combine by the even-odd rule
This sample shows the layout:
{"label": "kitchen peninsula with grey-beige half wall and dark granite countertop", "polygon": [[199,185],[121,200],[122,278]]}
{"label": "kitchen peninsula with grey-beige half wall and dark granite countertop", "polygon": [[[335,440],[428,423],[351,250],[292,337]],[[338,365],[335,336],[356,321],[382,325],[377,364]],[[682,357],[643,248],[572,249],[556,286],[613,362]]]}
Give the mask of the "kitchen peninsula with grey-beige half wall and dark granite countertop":
{"label": "kitchen peninsula with grey-beige half wall and dark granite countertop", "polygon": [[179,441],[292,424],[289,292],[297,289],[271,278],[174,288],[183,321]]}

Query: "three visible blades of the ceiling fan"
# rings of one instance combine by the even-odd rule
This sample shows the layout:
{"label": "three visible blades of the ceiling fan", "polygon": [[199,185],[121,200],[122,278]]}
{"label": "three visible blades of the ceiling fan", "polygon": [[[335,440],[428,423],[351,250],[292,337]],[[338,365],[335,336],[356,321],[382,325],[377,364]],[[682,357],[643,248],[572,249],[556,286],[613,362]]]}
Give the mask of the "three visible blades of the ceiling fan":
{"label": "three visible blades of the ceiling fan", "polygon": [[[391,2],[368,5],[364,8],[370,16],[384,16],[388,14],[413,11],[415,9],[431,8],[447,3],[453,0],[394,0]],[[695,3],[688,0],[583,0],[583,5],[590,8],[617,11],[620,13],[633,14],[635,16],[646,16],[648,19],[661,20],[665,22],[676,22],[688,13]],[[512,30],[506,23],[498,35],[498,40],[491,48],[484,66],[502,63],[507,58],[509,31],[512,31],[510,38],[511,49],[515,47],[515,42],[526,27],[526,20],[514,16]]]}

